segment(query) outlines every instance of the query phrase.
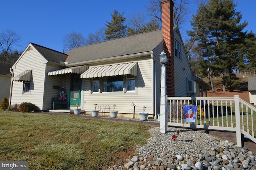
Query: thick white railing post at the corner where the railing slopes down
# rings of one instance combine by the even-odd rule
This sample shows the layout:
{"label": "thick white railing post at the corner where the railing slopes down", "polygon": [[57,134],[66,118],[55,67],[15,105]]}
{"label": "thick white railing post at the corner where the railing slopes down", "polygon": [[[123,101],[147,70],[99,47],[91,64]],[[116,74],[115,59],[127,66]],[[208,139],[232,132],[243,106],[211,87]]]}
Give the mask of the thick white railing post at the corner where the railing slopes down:
{"label": "thick white railing post at the corner where the railing slopes down", "polygon": [[235,95],[234,100],[235,100],[235,115],[236,115],[236,145],[238,147],[242,147],[239,95]]}

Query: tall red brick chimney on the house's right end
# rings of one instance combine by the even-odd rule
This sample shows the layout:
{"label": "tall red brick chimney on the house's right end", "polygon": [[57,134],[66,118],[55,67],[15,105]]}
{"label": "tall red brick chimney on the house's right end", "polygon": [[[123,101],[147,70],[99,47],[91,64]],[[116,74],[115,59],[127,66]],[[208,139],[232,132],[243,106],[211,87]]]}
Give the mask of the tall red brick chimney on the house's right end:
{"label": "tall red brick chimney on the house's right end", "polygon": [[167,54],[166,63],[166,93],[174,96],[174,35],[173,35],[173,6],[172,0],[162,0],[162,36],[164,51]]}

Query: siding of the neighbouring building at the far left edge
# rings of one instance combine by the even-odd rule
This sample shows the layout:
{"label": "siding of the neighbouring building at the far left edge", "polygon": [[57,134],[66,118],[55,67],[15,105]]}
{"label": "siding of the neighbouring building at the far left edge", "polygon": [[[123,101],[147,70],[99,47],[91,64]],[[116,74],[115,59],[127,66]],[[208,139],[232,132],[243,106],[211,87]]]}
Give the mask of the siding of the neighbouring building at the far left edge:
{"label": "siding of the neighbouring building at the far left edge", "polygon": [[6,97],[9,101],[10,96],[10,85],[11,85],[11,76],[0,75],[0,100]]}

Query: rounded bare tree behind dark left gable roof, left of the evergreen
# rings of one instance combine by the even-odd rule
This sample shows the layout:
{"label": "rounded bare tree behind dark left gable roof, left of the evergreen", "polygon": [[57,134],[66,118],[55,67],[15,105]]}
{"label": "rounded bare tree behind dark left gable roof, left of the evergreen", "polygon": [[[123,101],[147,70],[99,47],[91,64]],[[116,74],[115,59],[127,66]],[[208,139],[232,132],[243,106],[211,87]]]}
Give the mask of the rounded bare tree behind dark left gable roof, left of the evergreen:
{"label": "rounded bare tree behind dark left gable roof, left of the evergreen", "polygon": [[86,39],[81,33],[70,32],[66,34],[63,39],[64,50],[70,50],[75,47],[80,47],[86,45]]}

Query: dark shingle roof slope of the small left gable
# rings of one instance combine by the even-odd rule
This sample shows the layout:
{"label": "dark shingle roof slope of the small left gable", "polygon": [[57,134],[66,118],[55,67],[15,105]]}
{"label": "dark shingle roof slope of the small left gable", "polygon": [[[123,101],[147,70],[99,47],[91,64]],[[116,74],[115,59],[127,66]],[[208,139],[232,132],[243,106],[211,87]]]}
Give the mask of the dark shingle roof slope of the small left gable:
{"label": "dark shingle roof slope of the small left gable", "polygon": [[58,52],[58,51],[52,50],[50,48],[46,48],[46,47],[43,47],[43,46],[40,46],[40,45],[37,45],[37,44],[34,44],[34,43],[31,43],[31,44],[48,61],[60,63],[60,61],[64,62],[66,60],[67,56],[68,56],[67,54],[64,54],[62,52]]}

